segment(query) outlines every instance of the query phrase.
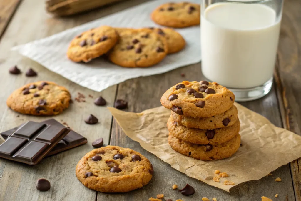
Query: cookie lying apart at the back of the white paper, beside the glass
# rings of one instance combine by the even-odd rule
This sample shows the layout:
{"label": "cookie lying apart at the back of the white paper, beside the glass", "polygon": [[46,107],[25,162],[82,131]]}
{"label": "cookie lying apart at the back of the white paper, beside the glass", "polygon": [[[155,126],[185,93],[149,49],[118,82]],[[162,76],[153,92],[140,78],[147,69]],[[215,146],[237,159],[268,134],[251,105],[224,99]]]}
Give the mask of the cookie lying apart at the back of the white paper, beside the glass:
{"label": "cookie lying apart at the back of the white paper, beside the glass", "polygon": [[156,8],[151,19],[166,27],[190,27],[200,24],[200,5],[181,2],[166,3]]}

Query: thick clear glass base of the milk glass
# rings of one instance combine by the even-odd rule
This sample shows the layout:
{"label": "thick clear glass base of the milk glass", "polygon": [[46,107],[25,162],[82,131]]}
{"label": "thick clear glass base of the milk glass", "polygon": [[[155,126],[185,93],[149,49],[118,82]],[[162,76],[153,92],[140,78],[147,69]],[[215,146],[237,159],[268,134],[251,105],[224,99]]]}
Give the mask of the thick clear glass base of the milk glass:
{"label": "thick clear glass base of the milk glass", "polygon": [[245,89],[231,88],[231,87],[227,87],[227,88],[234,93],[235,101],[244,102],[244,101],[256,100],[267,95],[272,89],[272,84],[273,84],[273,77],[271,77],[271,79],[269,79],[263,85],[256,86],[253,88],[245,88]]}

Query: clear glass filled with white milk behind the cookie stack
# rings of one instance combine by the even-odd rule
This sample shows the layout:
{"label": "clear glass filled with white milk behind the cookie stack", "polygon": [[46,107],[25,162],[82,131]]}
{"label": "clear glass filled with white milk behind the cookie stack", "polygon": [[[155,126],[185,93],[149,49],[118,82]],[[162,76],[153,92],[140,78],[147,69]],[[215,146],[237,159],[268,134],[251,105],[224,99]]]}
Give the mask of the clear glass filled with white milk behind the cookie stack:
{"label": "clear glass filled with white milk behind the cookie stack", "polygon": [[237,101],[272,88],[283,0],[201,0],[202,73]]}

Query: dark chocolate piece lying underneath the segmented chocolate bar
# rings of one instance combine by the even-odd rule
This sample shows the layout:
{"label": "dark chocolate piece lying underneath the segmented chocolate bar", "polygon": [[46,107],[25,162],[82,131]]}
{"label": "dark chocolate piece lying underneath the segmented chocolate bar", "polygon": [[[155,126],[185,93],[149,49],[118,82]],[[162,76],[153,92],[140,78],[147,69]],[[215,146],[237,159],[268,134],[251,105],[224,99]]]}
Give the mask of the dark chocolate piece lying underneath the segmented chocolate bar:
{"label": "dark chocolate piece lying underneath the segmented chocolate bar", "polygon": [[[65,128],[65,126],[63,124],[56,121],[55,119],[48,119],[46,121],[42,121],[41,123]],[[20,126],[22,126],[22,125],[23,124],[21,124]],[[8,136],[10,136],[12,133],[14,133],[20,126],[12,128],[12,129],[7,130],[7,131],[4,131],[0,134],[4,139],[6,139],[6,138],[8,138]],[[74,147],[83,145],[87,142],[88,141],[85,137],[81,136],[79,133],[76,133],[73,130],[70,130],[70,132],[61,141],[59,141],[57,143],[57,145],[54,146],[53,149],[51,149],[50,152],[48,152],[47,156],[54,155],[54,154],[63,152],[63,151],[68,150],[68,149],[72,149]]]}

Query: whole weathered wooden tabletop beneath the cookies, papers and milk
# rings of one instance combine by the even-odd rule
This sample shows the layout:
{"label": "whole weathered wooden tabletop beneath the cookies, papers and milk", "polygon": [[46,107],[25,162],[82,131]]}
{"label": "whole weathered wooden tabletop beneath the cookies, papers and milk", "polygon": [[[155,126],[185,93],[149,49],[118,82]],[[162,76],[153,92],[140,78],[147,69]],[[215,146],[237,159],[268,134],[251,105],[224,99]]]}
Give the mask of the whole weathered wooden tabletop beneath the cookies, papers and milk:
{"label": "whole weathered wooden tabletop beneath the cookies, papers and milk", "polygon": [[[160,97],[170,86],[182,80],[203,80],[201,64],[178,68],[176,70],[149,77],[139,77],[111,86],[102,92],[94,92],[81,87],[60,75],[57,75],[40,64],[10,51],[16,45],[53,35],[85,22],[104,17],[125,8],[138,5],[146,0],[128,0],[106,6],[85,14],[73,17],[54,18],[45,12],[42,0],[1,0],[0,1],[0,131],[8,130],[24,121],[42,121],[49,117],[19,115],[6,106],[6,99],[16,88],[26,83],[49,80],[66,86],[73,98],[77,93],[97,97],[103,96],[108,106],[113,106],[115,99],[129,102],[128,111],[142,110],[160,105]],[[301,134],[301,1],[285,0],[281,25],[278,57],[275,70],[275,82],[272,91],[265,97],[242,105],[267,117],[278,127],[284,127]],[[8,73],[8,68],[18,65],[22,74],[15,76]],[[33,68],[37,77],[25,77],[25,71]],[[181,77],[181,73],[185,77]],[[258,72],[260,73],[260,72]],[[99,123],[87,125],[83,119],[90,113],[98,117]],[[0,159],[0,200],[148,200],[163,193],[167,198],[185,201],[201,200],[202,197],[218,200],[261,200],[267,196],[273,200],[301,200],[301,160],[284,165],[257,181],[239,184],[227,193],[224,190],[209,186],[190,178],[173,169],[155,155],[141,148],[139,143],[129,139],[105,107],[93,104],[92,98],[86,102],[74,102],[62,114],[54,117],[67,124],[88,138],[86,145],[43,159],[38,165],[30,166],[5,159]],[[151,182],[130,193],[100,193],[83,186],[75,176],[75,166],[85,153],[93,149],[91,142],[99,137],[104,138],[105,145],[117,145],[134,149],[152,162],[154,177]],[[247,172],[246,172],[247,174]],[[36,190],[38,178],[51,182],[47,192]],[[281,177],[281,182],[275,182]],[[183,196],[172,190],[172,184],[180,187],[188,183],[196,193]],[[278,193],[278,198],[275,194]]]}

